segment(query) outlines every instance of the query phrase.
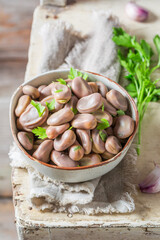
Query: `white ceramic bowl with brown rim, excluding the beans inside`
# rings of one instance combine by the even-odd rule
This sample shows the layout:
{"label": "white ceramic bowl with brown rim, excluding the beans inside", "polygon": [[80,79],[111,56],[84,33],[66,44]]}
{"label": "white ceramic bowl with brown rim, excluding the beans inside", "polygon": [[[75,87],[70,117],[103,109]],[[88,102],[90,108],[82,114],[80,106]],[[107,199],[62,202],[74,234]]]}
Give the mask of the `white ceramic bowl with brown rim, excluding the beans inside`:
{"label": "white ceramic bowl with brown rim, excluding the beans inside", "polygon": [[[82,71],[84,72],[84,71]],[[102,75],[87,72],[89,79],[91,81],[101,81],[103,82],[109,89],[115,89],[121,92],[127,99],[129,103],[129,111],[130,116],[135,121],[135,129],[133,134],[129,137],[127,143],[125,144],[124,148],[121,152],[119,152],[116,156],[113,158],[103,161],[98,164],[94,164],[91,166],[85,166],[85,167],[78,167],[78,168],[64,168],[64,167],[58,167],[54,165],[49,165],[47,163],[43,163],[32,156],[30,156],[25,149],[21,146],[17,139],[17,128],[16,128],[16,117],[14,114],[15,107],[17,105],[19,97],[22,95],[22,87],[26,84],[30,84],[32,86],[38,87],[42,84],[49,84],[52,81],[58,79],[58,78],[64,78],[66,79],[68,76],[69,70],[56,70],[56,71],[50,71],[46,72],[44,74],[41,74],[32,80],[28,81],[27,83],[23,83],[18,89],[14,92],[11,104],[10,104],[10,126],[11,131],[13,134],[13,138],[19,147],[19,149],[22,151],[24,158],[27,160],[27,162],[35,169],[37,169],[42,174],[49,176],[52,179],[57,179],[64,182],[83,182],[87,180],[91,180],[97,177],[100,177],[104,175],[105,173],[111,171],[113,168],[115,168],[120,161],[123,159],[125,154],[127,153],[134,137],[136,134],[137,126],[138,126],[138,111],[135,105],[134,100],[130,97],[130,95],[123,89],[119,84],[115,83],[114,81],[108,79],[107,77],[104,77]]]}

